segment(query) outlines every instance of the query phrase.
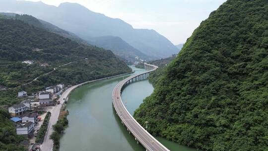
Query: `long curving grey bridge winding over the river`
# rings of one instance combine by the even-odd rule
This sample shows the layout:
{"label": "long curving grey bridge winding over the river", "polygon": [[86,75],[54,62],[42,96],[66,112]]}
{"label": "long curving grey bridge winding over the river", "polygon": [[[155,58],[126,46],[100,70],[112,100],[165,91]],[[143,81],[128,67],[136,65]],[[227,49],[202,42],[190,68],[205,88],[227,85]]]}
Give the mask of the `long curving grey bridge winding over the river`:
{"label": "long curving grey bridge winding over the river", "polygon": [[[149,65],[149,64],[146,64]],[[153,136],[151,136],[129,113],[129,111],[126,109],[125,105],[122,102],[121,99],[121,91],[125,83],[127,83],[129,80],[146,73],[150,73],[157,69],[156,66],[149,65],[153,67],[153,70],[143,72],[138,75],[132,75],[122,81],[120,81],[116,87],[113,90],[113,105],[114,108],[122,120],[122,122],[125,124],[125,126],[128,128],[128,130],[134,135],[135,139],[147,150],[147,151],[169,151],[166,147],[164,147],[160,142],[158,142]]]}

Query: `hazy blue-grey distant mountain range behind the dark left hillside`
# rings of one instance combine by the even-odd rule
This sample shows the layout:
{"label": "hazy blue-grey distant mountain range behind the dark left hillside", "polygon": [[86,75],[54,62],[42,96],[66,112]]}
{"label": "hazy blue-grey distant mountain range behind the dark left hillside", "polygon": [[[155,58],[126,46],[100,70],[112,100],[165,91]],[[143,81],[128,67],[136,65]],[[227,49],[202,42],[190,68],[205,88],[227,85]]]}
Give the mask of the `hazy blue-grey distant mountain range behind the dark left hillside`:
{"label": "hazy blue-grey distant mountain range behind the dark left hillside", "polygon": [[0,11],[33,15],[70,31],[89,43],[96,37],[113,36],[109,39],[116,40],[120,37],[134,49],[151,56],[146,59],[169,57],[179,52],[167,38],[154,30],[134,29],[121,19],[90,11],[77,3],[65,2],[56,7],[43,2],[1,0]]}

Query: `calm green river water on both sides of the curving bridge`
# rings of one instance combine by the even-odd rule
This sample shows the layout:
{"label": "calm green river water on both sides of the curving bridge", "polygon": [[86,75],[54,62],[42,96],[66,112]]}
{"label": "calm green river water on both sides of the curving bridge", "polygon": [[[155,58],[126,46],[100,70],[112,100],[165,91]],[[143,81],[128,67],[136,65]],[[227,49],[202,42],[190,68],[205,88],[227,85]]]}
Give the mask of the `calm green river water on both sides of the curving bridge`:
{"label": "calm green river water on both sides of the curving bridge", "polygon": [[[144,71],[131,67],[135,74]],[[121,124],[112,106],[113,88],[127,76],[89,83],[71,93],[67,105],[69,125],[61,138],[60,151],[145,151]],[[148,80],[134,82],[124,89],[122,100],[133,115],[152,91]],[[163,138],[156,139],[171,151],[196,151]]]}

